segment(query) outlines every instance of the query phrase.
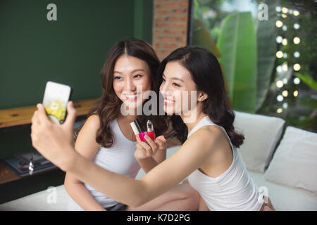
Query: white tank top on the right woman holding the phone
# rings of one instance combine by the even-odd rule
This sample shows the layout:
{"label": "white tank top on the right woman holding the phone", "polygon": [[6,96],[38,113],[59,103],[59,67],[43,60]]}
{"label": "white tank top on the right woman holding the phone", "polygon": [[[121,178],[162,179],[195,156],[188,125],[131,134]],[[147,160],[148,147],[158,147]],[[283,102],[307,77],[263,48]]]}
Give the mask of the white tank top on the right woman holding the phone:
{"label": "white tank top on the right woman holding the phone", "polygon": [[217,177],[207,176],[197,169],[188,176],[189,184],[200,193],[209,210],[259,211],[262,204],[258,199],[263,199],[263,194],[259,193],[259,188],[247,173],[240,151],[232,146],[225,129],[214,124],[206,116],[189,132],[187,138],[199,128],[210,125],[220,127],[227,136],[232,148],[232,164],[223,174]]}

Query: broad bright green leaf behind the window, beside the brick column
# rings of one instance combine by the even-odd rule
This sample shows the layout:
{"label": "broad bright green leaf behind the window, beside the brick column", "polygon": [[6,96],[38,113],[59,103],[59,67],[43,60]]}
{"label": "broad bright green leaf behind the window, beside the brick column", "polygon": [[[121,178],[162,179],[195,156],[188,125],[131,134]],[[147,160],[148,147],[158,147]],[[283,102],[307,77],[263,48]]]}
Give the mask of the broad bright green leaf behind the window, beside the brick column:
{"label": "broad bright green leaf behind the window, beside the brick column", "polygon": [[217,43],[229,97],[235,110],[256,110],[256,33],[250,12],[232,13],[222,22]]}

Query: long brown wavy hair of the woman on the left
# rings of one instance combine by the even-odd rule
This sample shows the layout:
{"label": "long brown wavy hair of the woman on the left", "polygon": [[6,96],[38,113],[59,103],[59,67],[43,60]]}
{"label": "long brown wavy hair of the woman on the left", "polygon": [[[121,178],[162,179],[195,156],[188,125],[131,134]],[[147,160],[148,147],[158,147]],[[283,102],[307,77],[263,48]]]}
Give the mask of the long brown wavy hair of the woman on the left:
{"label": "long brown wavy hair of the woman on the left", "polygon": [[[147,63],[150,70],[151,90],[159,95],[159,85],[161,83],[156,72],[160,61],[151,45],[140,39],[118,41],[108,54],[101,70],[102,96],[92,105],[86,117],[88,118],[90,115],[99,116],[100,127],[97,130],[96,141],[105,148],[110,148],[114,144],[110,124],[120,114],[120,106],[123,103],[113,90],[113,68],[118,58],[123,55],[133,56]],[[143,105],[149,100],[150,98]],[[137,120],[139,120],[139,124],[144,130],[146,130],[147,120],[151,120],[156,136],[159,136],[168,129],[168,120],[165,116],[159,115],[159,98],[157,104],[156,115],[138,115]]]}

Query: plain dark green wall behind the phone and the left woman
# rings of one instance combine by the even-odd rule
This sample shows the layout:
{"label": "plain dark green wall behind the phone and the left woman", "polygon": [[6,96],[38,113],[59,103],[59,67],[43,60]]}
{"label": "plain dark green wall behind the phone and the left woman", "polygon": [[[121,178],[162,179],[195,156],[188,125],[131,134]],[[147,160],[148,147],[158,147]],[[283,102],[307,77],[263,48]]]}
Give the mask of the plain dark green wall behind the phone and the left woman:
{"label": "plain dark green wall behind the phone and the left woman", "polygon": [[[48,4],[57,21],[48,21]],[[42,102],[46,81],[73,86],[73,101],[101,96],[100,70],[116,41],[151,43],[153,1],[1,0],[0,109]],[[0,131],[0,158],[30,151],[30,129]]]}

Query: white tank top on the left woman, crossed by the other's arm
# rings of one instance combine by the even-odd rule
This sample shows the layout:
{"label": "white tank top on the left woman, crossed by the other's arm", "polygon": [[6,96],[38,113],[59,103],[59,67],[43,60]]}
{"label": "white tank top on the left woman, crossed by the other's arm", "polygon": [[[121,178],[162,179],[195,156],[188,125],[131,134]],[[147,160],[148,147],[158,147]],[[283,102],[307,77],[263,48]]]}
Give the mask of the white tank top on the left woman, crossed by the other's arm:
{"label": "white tank top on the left woman, crossed by the other's arm", "polygon": [[[135,159],[135,145],[137,142],[130,141],[124,136],[116,119],[111,122],[111,130],[113,131],[113,146],[111,148],[99,148],[94,158],[92,158],[92,161],[111,172],[123,174],[135,179],[140,169],[139,163]],[[92,176],[94,176],[94,174],[92,174]],[[100,193],[92,186],[88,184],[84,185],[102,207],[111,207],[118,203],[116,200]],[[67,209],[72,211],[83,210],[72,198],[69,198]]]}

